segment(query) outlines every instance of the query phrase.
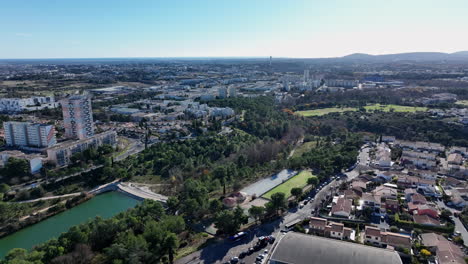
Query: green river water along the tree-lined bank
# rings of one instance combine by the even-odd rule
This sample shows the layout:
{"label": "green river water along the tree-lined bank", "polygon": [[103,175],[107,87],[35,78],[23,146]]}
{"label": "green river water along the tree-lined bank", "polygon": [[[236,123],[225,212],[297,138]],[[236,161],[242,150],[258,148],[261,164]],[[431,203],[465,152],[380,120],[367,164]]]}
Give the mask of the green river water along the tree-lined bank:
{"label": "green river water along the tree-lined bank", "polygon": [[70,227],[95,216],[110,218],[137,205],[139,201],[119,192],[107,192],[65,212],[0,239],[0,259],[13,248],[31,249],[34,245],[57,238]]}

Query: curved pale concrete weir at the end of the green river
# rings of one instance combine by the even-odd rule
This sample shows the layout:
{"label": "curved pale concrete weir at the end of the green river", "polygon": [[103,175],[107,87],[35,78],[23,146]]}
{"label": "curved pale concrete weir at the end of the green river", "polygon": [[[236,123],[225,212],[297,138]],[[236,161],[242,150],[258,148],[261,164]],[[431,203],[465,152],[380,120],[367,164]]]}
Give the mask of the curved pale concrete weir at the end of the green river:
{"label": "curved pale concrete weir at the end of the green river", "polygon": [[150,200],[158,201],[162,203],[166,203],[167,201],[167,196],[154,193],[147,187],[139,187],[136,184],[130,183],[130,182],[124,183],[124,182],[114,181],[114,182],[102,185],[94,190],[91,190],[89,193],[100,194],[100,193],[109,192],[109,191],[118,191],[128,196],[131,196],[132,198],[135,198],[137,200],[150,199]]}

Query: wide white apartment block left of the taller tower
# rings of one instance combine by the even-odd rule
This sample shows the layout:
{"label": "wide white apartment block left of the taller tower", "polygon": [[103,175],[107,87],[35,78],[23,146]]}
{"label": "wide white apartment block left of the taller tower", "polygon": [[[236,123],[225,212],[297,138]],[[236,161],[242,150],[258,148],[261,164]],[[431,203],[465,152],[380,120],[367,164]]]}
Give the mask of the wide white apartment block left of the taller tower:
{"label": "wide white apartment block left of the taller tower", "polygon": [[52,125],[29,122],[3,122],[7,146],[47,148],[57,143]]}

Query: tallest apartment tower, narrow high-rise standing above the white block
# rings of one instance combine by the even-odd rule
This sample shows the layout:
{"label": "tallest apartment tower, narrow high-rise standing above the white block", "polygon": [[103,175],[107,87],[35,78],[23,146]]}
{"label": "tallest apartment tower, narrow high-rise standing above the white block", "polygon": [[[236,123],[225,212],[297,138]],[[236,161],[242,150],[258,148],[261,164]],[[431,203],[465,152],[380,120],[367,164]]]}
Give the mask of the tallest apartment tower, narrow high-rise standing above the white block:
{"label": "tallest apartment tower, narrow high-rise standing above the white block", "polygon": [[85,139],[94,135],[91,98],[87,95],[73,95],[60,101],[63,113],[65,136]]}

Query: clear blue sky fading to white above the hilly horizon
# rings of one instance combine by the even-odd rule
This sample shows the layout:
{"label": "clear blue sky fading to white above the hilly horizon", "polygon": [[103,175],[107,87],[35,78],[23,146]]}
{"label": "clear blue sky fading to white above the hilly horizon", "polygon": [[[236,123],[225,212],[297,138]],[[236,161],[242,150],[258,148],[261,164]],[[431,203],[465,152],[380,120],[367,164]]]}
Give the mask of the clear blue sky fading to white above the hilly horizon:
{"label": "clear blue sky fading to white above the hilly horizon", "polygon": [[468,50],[466,0],[0,0],[0,58]]}

